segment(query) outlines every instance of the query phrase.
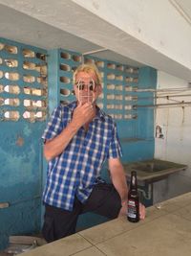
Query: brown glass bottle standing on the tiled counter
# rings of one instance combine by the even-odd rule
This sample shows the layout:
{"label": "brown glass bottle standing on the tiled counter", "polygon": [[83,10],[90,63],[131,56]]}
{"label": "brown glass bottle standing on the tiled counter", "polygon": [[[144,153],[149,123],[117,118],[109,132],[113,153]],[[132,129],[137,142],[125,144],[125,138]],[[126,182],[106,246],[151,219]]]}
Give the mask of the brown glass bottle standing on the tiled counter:
{"label": "brown glass bottle standing on the tiled counter", "polygon": [[127,219],[131,222],[139,221],[139,198],[137,173],[131,172],[131,183],[127,202]]}

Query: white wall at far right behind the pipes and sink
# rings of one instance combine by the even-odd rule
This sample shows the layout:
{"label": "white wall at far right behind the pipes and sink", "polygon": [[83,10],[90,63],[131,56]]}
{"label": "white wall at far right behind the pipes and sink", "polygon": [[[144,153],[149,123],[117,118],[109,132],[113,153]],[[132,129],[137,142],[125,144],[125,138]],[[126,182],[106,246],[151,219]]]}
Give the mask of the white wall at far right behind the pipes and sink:
{"label": "white wall at far right behind the pipes and sink", "polygon": [[[175,104],[179,102],[191,102],[191,88],[187,82],[166,73],[158,72],[158,89],[165,95],[171,95],[170,99],[160,98],[157,104]],[[172,91],[172,88],[181,88],[181,91]],[[171,91],[166,92],[167,89]],[[164,94],[163,94],[164,95]],[[173,97],[172,95],[180,95]],[[188,95],[188,96],[183,96]],[[162,129],[162,138],[155,138],[155,157],[188,165],[186,171],[176,175],[170,175],[168,179],[159,181],[154,185],[154,203],[166,198],[172,198],[191,189],[191,105],[171,106],[156,109],[156,126]]]}

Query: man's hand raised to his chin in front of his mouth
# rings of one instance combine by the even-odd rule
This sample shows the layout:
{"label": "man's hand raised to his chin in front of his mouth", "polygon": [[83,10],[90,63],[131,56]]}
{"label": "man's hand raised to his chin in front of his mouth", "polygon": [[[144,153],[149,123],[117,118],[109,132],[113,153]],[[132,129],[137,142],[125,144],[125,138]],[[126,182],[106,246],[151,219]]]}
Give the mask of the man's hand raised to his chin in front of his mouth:
{"label": "man's hand raised to his chin in front of his mouth", "polygon": [[91,103],[77,105],[74,108],[72,122],[77,128],[81,128],[87,123],[90,123],[96,115],[96,109]]}

